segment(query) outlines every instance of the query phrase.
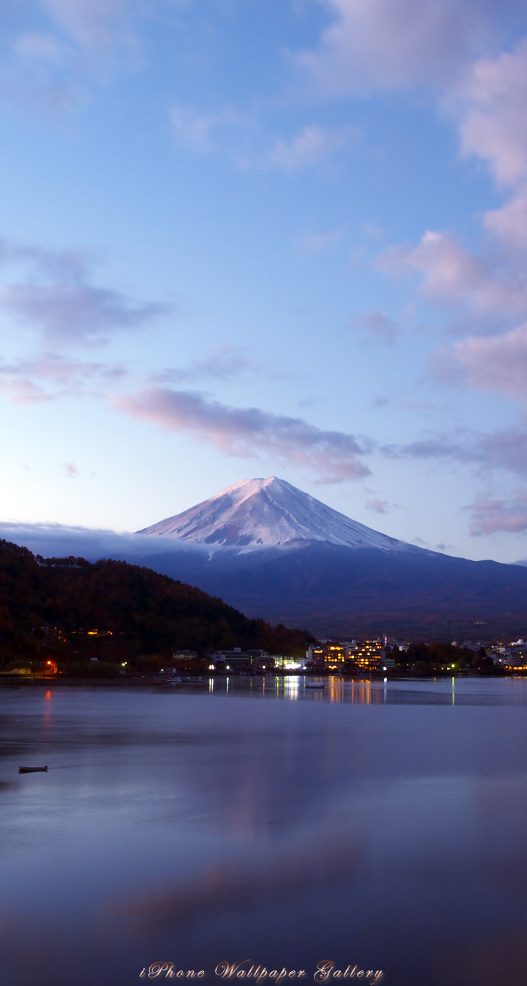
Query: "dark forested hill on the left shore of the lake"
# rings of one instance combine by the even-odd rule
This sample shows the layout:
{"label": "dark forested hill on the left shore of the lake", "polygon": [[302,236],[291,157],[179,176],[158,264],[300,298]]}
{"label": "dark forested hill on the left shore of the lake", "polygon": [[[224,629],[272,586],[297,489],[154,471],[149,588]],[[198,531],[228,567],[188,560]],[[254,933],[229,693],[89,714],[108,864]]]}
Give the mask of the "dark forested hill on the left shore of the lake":
{"label": "dark forested hill on the left shore of the lake", "polygon": [[[97,637],[89,636],[94,630]],[[221,599],[138,565],[41,558],[1,540],[0,662],[38,652],[57,631],[60,656],[102,646],[106,634],[107,658],[120,657],[123,648],[136,654],[231,647],[298,654],[313,640],[301,630],[248,619]]]}

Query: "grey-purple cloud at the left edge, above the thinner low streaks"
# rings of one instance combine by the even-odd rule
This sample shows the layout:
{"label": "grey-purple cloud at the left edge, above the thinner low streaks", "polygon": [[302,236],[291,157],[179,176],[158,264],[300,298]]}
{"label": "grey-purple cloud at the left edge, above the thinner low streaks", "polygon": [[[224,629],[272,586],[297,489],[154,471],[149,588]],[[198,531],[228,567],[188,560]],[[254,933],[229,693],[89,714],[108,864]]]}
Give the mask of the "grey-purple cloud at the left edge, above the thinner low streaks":
{"label": "grey-purple cloud at the left edge, above the thinner low streaks", "polygon": [[101,342],[115,330],[143,328],[171,311],[97,284],[92,268],[79,251],[2,241],[0,309],[37,328],[53,345]]}

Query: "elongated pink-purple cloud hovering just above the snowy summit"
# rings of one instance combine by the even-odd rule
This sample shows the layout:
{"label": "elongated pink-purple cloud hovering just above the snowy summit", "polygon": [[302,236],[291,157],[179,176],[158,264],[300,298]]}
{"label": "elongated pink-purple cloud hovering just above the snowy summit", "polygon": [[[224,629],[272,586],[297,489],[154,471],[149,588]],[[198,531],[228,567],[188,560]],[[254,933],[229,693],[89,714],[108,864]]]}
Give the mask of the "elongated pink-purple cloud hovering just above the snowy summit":
{"label": "elongated pink-purple cloud hovering just above the snowy summit", "polygon": [[270,456],[311,469],[321,482],[339,483],[370,472],[361,460],[368,451],[365,442],[343,432],[323,431],[301,418],[231,407],[195,391],[163,387],[116,396],[114,403],[126,414],[169,431],[194,434],[226,456]]}

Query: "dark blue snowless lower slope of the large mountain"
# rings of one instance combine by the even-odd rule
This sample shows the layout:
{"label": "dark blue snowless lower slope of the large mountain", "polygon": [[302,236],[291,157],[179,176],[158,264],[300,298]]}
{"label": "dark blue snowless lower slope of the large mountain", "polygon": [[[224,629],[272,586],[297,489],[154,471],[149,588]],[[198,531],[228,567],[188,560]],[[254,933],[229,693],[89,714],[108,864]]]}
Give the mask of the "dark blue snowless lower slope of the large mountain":
{"label": "dark blue snowless lower slope of the large mountain", "polygon": [[249,616],[322,637],[527,637],[527,569],[516,565],[324,543],[207,552],[177,542],[141,564],[221,594]]}

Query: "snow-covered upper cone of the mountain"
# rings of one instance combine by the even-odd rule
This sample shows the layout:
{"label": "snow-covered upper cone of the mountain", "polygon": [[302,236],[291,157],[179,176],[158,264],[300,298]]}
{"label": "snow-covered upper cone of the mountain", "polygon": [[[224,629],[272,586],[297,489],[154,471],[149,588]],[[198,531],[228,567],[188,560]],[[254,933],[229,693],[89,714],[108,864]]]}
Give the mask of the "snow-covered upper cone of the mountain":
{"label": "snow-covered upper cone of the mountain", "polygon": [[228,547],[323,541],[352,548],[416,550],[351,521],[284,479],[243,479],[183,514],[139,530],[183,541]]}

